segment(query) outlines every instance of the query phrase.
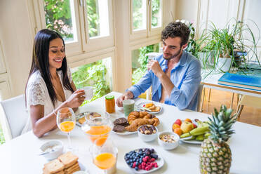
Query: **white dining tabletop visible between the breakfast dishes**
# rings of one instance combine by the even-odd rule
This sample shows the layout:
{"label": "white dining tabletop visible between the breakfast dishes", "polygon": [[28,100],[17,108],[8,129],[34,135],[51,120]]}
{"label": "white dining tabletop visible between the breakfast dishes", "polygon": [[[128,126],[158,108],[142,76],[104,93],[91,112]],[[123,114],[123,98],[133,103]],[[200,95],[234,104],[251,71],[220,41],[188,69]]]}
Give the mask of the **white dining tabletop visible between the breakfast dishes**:
{"label": "white dining tabletop visible between the breakfast dishes", "polygon": [[[118,98],[121,93],[112,92],[115,98]],[[136,103],[145,102],[148,100],[135,99]],[[180,111],[178,107],[157,103],[163,107],[162,112],[156,114],[160,120],[158,126],[159,132],[171,131],[172,124],[176,119],[200,119],[205,121],[208,119],[208,114],[201,112],[193,112],[190,110]],[[84,105],[79,108],[79,112],[105,112],[105,98]],[[123,109],[116,107],[116,112],[111,114],[112,121],[116,118],[123,117]],[[257,174],[261,173],[261,127],[253,126],[246,123],[236,122],[234,124],[236,133],[229,140],[229,146],[232,150],[232,166],[230,173],[233,174]],[[200,145],[185,144],[180,142],[180,145],[173,150],[163,149],[154,140],[152,142],[143,142],[138,137],[137,133],[133,135],[117,135],[110,133],[114,144],[118,148],[118,159],[116,163],[116,173],[132,173],[124,161],[124,155],[133,149],[138,148],[154,148],[155,151],[163,157],[164,164],[159,170],[153,173],[200,173],[199,172],[199,153]],[[32,131],[20,135],[11,141],[0,146],[0,173],[27,173],[36,174],[43,173],[44,163],[47,163],[43,156],[39,156],[39,147],[48,140],[61,140],[65,147],[68,145],[67,135],[56,129],[50,133],[46,133],[44,137],[37,138]],[[91,147],[91,141],[81,131],[79,126],[76,126],[71,133],[72,146],[76,147],[79,156],[79,163],[88,170],[90,174],[102,173],[91,159],[91,154],[88,149]]]}

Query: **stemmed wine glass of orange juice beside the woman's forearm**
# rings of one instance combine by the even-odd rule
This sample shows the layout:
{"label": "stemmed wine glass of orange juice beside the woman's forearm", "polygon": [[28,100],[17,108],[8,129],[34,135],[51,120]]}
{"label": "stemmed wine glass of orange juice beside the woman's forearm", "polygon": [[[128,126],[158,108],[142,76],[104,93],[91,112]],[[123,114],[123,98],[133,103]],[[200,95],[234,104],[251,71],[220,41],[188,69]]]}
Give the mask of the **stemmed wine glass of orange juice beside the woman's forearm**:
{"label": "stemmed wine glass of orange juice beside the woman's forearm", "polygon": [[74,129],[75,126],[75,114],[72,108],[64,107],[58,110],[56,122],[60,131],[67,133],[67,138],[69,141],[68,151],[72,151],[72,142],[69,137],[69,133]]}

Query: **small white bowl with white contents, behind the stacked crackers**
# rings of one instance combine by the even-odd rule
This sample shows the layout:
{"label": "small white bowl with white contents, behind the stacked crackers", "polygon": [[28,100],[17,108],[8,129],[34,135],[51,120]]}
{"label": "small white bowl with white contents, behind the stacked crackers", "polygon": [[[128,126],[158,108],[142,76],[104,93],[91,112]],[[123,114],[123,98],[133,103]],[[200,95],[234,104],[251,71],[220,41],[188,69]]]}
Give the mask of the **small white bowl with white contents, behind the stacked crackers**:
{"label": "small white bowl with white contents, behind the stacked crackers", "polygon": [[[51,151],[47,154],[42,155],[47,160],[50,161],[50,160],[58,158],[58,156],[60,156],[62,154],[63,143],[60,140],[51,140],[51,141],[45,142],[44,145],[41,145],[40,149],[43,153]],[[51,149],[53,149],[53,151]]]}

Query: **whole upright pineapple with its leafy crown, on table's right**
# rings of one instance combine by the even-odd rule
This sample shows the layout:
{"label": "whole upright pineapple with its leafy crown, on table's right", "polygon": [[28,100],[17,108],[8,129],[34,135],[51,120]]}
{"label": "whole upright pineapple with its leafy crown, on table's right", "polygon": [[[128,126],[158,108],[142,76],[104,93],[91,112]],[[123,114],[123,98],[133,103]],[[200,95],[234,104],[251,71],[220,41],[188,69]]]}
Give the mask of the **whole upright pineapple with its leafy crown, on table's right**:
{"label": "whole upright pineapple with its leafy crown, on table's right", "polygon": [[204,174],[229,173],[232,154],[226,142],[234,133],[231,127],[236,122],[236,114],[232,115],[232,109],[221,105],[220,112],[215,109],[212,117],[212,120],[208,117],[210,136],[201,145],[200,171]]}

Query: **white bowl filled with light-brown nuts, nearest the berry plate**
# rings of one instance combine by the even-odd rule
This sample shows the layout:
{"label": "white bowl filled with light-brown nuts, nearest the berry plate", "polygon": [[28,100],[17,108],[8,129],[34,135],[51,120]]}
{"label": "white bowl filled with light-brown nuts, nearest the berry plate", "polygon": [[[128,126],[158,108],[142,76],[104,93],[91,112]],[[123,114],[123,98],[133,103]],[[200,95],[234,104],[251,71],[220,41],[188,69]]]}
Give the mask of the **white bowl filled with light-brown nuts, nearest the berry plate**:
{"label": "white bowl filled with light-brown nuts, nearest the berry plate", "polygon": [[180,136],[177,133],[170,131],[163,131],[159,133],[158,142],[163,149],[170,150],[178,147],[178,142],[180,141]]}

